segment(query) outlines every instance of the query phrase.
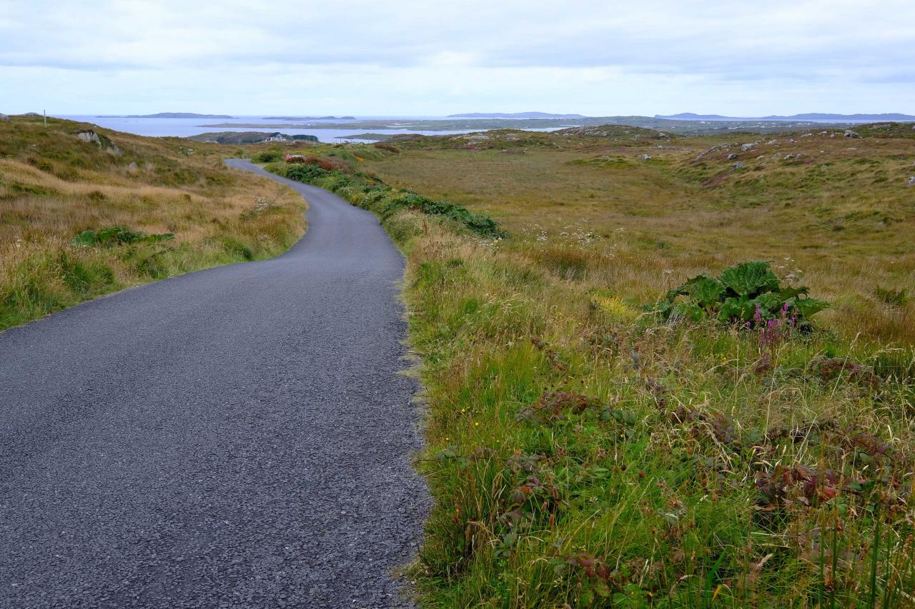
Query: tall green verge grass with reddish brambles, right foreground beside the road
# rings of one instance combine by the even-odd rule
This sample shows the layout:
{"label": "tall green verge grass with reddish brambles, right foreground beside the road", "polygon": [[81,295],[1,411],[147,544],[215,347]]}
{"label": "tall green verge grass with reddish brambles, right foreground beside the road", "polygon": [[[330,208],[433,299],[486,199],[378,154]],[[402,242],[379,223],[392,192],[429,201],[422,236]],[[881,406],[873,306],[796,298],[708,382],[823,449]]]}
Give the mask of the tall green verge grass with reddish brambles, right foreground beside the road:
{"label": "tall green verge grass with reddish brambles, right foreground beside the road", "polygon": [[[426,604],[906,606],[911,377],[874,387],[848,343],[633,323],[519,289],[479,245],[416,248]],[[592,405],[523,416],[557,390]]]}

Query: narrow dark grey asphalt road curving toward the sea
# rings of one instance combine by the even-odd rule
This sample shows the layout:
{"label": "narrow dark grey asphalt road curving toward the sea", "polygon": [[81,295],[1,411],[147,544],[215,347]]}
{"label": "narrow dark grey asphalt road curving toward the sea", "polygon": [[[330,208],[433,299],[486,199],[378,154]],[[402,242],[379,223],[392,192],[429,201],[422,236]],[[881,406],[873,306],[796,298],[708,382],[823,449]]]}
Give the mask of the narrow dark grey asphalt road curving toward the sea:
{"label": "narrow dark grey asphalt road curving toward the sea", "polygon": [[400,603],[427,506],[404,263],[281,181],[310,205],[284,255],[0,333],[0,607]]}

